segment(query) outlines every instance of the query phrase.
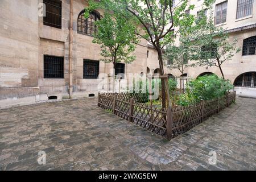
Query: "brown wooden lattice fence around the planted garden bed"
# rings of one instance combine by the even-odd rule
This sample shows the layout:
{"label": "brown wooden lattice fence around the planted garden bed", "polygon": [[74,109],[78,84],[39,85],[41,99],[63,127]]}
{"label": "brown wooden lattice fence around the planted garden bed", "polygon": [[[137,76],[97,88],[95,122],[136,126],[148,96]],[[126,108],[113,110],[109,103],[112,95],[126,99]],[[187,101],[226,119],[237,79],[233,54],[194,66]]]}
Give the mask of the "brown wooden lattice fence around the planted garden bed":
{"label": "brown wooden lattice fence around the planted garden bed", "polygon": [[166,110],[141,104],[143,97],[130,93],[99,93],[98,106],[171,140],[230,106],[236,101],[236,92],[216,100],[201,101],[193,106],[172,107]]}

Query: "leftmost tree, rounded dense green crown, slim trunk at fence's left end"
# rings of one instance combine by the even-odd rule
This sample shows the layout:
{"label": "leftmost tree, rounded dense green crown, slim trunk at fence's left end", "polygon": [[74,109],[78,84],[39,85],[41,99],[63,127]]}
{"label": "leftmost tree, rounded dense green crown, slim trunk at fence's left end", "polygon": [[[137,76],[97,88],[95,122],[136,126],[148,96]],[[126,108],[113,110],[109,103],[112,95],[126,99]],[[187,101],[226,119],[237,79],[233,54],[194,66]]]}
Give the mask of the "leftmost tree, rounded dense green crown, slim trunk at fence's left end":
{"label": "leftmost tree, rounded dense green crown, slim trunk at fence's left end", "polygon": [[[105,14],[104,18],[96,23],[97,32],[93,43],[101,45],[100,59],[104,63],[113,63],[113,69],[117,63],[131,63],[136,57],[133,55],[138,37],[135,35],[135,26],[130,20],[120,14]],[[113,73],[113,92],[115,90],[115,73]]]}

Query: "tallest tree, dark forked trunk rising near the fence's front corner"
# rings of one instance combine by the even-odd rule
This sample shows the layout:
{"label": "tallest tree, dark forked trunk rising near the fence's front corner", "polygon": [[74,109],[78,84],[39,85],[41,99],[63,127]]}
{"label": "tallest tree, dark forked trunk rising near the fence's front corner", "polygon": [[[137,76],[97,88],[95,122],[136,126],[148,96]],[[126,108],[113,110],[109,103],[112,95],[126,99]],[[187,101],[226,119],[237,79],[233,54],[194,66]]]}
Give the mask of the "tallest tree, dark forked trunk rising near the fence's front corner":
{"label": "tallest tree, dark forked trunk rising near the fence's front corner", "polygon": [[[209,0],[205,0],[209,1]],[[99,2],[90,1],[87,11],[101,8],[112,12],[119,12],[126,18],[131,18],[138,23],[143,31],[137,31],[137,35],[146,39],[154,46],[158,53],[160,75],[164,75],[163,48],[174,41],[176,32],[182,26],[193,24],[193,16],[185,14],[185,10],[191,10],[194,6],[188,6],[188,0],[101,0]],[[166,94],[168,104],[170,104],[167,80],[162,81],[162,104],[166,107]]]}

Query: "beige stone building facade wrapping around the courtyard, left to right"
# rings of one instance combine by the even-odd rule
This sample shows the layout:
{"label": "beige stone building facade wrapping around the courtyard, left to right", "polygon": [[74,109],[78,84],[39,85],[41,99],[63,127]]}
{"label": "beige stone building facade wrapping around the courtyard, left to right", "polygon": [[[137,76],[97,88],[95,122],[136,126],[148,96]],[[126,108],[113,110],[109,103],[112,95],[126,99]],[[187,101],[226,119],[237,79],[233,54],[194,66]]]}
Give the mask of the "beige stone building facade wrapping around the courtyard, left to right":
{"label": "beige stone building facade wrapping around the courtyard, left to right", "polygon": [[[228,28],[230,39],[236,36],[238,46],[243,47],[245,39],[256,36],[256,0],[252,0],[251,13],[237,19],[238,1],[228,0],[226,22],[218,26]],[[202,2],[189,2],[196,5],[192,14],[201,9]],[[216,5],[221,2],[225,0],[217,0]],[[47,6],[46,17],[42,16],[44,4]],[[51,9],[48,9],[49,6]],[[92,43],[93,37],[89,32],[81,33],[85,28],[91,28],[81,27],[81,22],[85,20],[79,17],[86,6],[86,0],[0,1],[0,108],[32,104],[49,98],[69,98],[70,88],[73,98],[97,96],[99,80],[93,75],[86,75],[84,70],[98,65],[98,74],[109,74],[113,65],[98,61],[101,58],[100,46]],[[96,14],[103,13],[97,11]],[[90,23],[96,20],[94,18],[96,15],[92,16]],[[154,48],[145,40],[139,44],[135,51],[137,60],[120,67],[125,75],[154,73],[159,69]],[[243,73],[256,72],[255,53],[246,56],[238,53],[224,65],[224,71],[226,78],[232,82]],[[213,67],[186,70],[188,78],[196,78],[205,72],[220,75],[218,69]],[[165,73],[180,76],[177,70],[165,68]],[[255,86],[252,84],[245,87],[242,84],[236,89],[241,94],[256,95]]]}

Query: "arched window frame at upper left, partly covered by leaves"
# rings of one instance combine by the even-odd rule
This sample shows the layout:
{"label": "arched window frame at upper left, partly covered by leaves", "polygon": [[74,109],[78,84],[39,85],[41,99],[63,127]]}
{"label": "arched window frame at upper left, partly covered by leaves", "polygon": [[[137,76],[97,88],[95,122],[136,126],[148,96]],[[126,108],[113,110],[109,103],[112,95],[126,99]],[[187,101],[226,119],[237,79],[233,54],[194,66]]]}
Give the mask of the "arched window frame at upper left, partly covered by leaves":
{"label": "arched window frame at upper left, partly covered by leaves", "polygon": [[[82,10],[80,13],[79,13],[79,16],[77,17],[77,34],[82,34],[82,35],[88,35],[88,36],[93,36],[93,34],[95,34],[97,32],[97,27],[95,25],[95,22],[97,20],[100,20],[101,19],[101,15],[100,13],[98,13],[97,11],[92,11],[92,13],[90,13],[90,15],[93,15],[94,16],[94,30],[91,31],[92,33],[88,33],[88,30],[89,30],[89,26],[88,26],[88,18],[84,18],[84,19],[81,19],[80,17],[83,16],[83,14],[85,13],[85,10]],[[90,18],[90,17],[89,17]],[[79,23],[81,23],[81,26],[79,26]],[[81,28],[81,29],[80,29]],[[82,29],[84,28],[84,31],[82,31]]]}

